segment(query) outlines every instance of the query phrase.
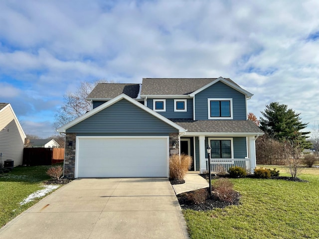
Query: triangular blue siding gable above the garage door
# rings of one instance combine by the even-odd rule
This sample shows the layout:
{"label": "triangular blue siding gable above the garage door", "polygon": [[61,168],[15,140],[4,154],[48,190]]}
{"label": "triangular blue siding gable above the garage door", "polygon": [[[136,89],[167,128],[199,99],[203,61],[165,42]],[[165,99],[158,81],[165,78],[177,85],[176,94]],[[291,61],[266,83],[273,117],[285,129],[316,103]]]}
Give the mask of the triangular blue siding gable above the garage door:
{"label": "triangular blue siding gable above the garage door", "polygon": [[114,105],[84,119],[66,130],[68,133],[112,134],[114,135],[167,135],[178,132],[177,129],[162,120],[145,112],[127,100]]}

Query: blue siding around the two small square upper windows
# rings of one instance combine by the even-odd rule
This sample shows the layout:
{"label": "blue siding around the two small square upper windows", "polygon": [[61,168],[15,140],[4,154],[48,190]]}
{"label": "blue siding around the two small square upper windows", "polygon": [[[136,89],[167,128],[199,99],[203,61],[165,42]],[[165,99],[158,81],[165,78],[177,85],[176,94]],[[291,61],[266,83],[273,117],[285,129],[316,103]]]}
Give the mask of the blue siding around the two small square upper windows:
{"label": "blue siding around the two small square upper windows", "polygon": [[[148,108],[153,110],[153,99],[148,99]],[[193,119],[193,99],[187,99],[187,112],[174,112],[174,99],[166,99],[166,111],[158,113],[167,119]]]}

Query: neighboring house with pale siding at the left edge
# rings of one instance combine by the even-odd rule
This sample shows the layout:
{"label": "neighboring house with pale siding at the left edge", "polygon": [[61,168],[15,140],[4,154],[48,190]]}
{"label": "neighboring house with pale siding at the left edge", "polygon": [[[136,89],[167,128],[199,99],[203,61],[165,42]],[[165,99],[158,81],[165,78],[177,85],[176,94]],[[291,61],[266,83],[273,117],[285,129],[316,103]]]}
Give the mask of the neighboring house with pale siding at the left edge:
{"label": "neighboring house with pale siding at the left edge", "polygon": [[0,103],[0,163],[14,160],[13,166],[22,165],[25,134],[8,103]]}

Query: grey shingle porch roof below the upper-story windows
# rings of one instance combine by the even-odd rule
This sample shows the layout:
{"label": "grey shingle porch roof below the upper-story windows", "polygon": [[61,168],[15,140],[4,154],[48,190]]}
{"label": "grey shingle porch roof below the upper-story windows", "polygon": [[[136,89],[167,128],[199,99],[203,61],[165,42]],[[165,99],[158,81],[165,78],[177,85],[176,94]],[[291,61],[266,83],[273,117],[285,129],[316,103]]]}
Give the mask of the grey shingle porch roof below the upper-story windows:
{"label": "grey shingle porch roof below the upper-story windows", "polygon": [[187,129],[187,132],[263,133],[252,120],[170,120]]}

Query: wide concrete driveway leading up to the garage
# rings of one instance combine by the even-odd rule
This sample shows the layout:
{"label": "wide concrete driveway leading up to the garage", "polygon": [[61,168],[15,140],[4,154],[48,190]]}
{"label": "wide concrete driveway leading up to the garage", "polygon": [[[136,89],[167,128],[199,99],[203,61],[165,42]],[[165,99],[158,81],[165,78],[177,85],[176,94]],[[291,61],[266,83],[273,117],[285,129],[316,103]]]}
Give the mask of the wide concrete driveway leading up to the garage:
{"label": "wide concrete driveway leading up to the garage", "polygon": [[188,238],[167,178],[76,179],[0,229],[0,239]]}

